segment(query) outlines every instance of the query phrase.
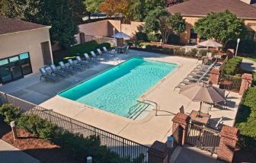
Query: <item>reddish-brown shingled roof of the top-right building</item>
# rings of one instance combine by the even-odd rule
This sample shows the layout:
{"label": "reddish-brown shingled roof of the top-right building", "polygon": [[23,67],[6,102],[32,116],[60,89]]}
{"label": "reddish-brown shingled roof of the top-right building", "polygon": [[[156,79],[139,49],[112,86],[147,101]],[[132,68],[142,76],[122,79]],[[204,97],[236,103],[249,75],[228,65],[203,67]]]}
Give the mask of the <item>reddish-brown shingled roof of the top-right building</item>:
{"label": "reddish-brown shingled roof of the top-right building", "polygon": [[189,0],[178,5],[168,7],[173,14],[180,12],[183,16],[203,17],[210,12],[229,10],[238,18],[256,19],[256,8],[240,0]]}

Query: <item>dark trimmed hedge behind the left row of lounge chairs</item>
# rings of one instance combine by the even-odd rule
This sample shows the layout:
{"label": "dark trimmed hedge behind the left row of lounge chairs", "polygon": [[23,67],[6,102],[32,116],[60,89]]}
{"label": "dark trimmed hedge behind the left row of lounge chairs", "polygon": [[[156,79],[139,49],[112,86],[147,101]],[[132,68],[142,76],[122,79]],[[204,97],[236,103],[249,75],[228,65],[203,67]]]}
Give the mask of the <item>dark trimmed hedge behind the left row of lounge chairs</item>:
{"label": "dark trimmed hedge behind the left row of lounge chairs", "polygon": [[102,47],[106,46],[107,49],[110,49],[110,43],[97,43],[95,40],[82,43],[70,47],[67,50],[58,50],[53,52],[53,62],[58,65],[60,61],[67,62],[67,59],[75,59],[75,56],[83,56],[84,53],[89,55],[91,51],[96,51],[98,48],[102,50]]}

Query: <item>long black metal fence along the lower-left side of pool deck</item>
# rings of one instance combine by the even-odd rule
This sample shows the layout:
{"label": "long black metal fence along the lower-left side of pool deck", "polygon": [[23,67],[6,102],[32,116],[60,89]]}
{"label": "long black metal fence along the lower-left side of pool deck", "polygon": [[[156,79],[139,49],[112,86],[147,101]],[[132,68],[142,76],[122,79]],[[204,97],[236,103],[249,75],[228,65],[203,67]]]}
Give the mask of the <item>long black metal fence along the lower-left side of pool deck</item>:
{"label": "long black metal fence along the lower-left side of pool deck", "polygon": [[117,136],[103,129],[66,117],[60,113],[54,112],[53,110],[46,110],[43,107],[21,100],[17,97],[13,97],[9,94],[0,92],[0,100],[1,104],[13,104],[15,107],[20,107],[24,114],[36,114],[44,120],[55,123],[61,129],[69,131],[69,133],[80,133],[84,137],[94,135],[99,136],[101,138],[102,145],[106,145],[108,149],[112,152],[116,152],[122,158],[130,157],[132,160],[133,158],[137,158],[139,155],[144,155],[144,162],[148,161],[149,147],[146,145],[133,142],[130,139]]}

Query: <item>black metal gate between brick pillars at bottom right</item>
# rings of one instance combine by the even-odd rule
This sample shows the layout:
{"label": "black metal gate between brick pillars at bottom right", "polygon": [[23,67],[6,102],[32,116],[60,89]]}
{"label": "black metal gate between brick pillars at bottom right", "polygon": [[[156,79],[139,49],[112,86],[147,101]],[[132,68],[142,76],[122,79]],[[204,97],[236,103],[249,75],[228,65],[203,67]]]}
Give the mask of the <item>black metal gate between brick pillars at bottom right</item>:
{"label": "black metal gate between brick pillars at bottom right", "polygon": [[220,140],[219,131],[190,123],[187,134],[187,144],[193,145],[199,149],[217,153]]}

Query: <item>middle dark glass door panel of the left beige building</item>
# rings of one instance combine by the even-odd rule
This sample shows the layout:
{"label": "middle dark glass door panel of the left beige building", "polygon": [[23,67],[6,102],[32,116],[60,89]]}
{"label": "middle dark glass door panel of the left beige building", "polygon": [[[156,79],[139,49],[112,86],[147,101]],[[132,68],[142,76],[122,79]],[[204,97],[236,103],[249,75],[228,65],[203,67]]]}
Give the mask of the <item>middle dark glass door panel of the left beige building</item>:
{"label": "middle dark glass door panel of the left beige building", "polygon": [[10,66],[12,80],[17,80],[19,78],[23,78],[20,60],[19,60],[18,56],[9,58],[9,66]]}

